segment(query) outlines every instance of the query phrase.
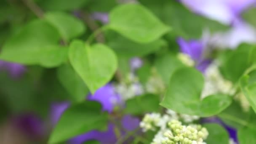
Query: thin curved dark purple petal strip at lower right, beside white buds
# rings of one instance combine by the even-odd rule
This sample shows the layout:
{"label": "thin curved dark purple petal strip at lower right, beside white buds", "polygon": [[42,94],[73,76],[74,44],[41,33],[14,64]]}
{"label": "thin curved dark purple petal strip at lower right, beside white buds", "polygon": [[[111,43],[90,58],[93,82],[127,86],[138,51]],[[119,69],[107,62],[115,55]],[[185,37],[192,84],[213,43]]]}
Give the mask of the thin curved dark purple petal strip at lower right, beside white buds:
{"label": "thin curved dark purple petal strip at lower right, beside white buds", "polygon": [[218,117],[203,118],[202,123],[217,123],[217,124],[223,126],[227,130],[227,132],[229,133],[229,138],[233,139],[236,143],[238,143],[236,129],[226,125]]}

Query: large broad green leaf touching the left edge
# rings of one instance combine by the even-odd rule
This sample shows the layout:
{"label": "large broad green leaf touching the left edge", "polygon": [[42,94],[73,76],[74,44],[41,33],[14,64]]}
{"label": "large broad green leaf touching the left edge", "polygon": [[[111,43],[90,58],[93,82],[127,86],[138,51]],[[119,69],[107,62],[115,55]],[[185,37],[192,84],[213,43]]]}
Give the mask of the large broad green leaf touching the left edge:
{"label": "large broad green leaf touching the left edge", "polygon": [[46,21],[31,21],[4,44],[0,59],[56,67],[67,60],[67,48],[59,46],[59,40],[57,29]]}

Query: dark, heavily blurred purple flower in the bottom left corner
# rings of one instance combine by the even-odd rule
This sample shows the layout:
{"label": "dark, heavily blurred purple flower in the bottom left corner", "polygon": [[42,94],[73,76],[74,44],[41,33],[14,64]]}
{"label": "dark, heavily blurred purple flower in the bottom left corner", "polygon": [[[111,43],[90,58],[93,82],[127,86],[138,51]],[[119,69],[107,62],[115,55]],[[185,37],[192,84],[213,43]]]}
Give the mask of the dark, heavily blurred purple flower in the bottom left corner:
{"label": "dark, heavily blurred purple flower in the bottom left corner", "polygon": [[43,122],[34,114],[18,115],[13,118],[13,123],[30,139],[38,140],[43,137]]}

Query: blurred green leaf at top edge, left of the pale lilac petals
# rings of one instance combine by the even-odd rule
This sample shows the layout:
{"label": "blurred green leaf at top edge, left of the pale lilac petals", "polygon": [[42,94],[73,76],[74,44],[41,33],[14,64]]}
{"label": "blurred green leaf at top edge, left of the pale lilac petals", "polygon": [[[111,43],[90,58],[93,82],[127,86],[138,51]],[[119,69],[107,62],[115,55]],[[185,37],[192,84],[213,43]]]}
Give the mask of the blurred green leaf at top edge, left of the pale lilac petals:
{"label": "blurred green leaf at top edge, left of the pale lilac petals", "polygon": [[182,3],[176,0],[139,0],[147,6],[165,24],[172,27],[173,34],[185,39],[201,38],[203,30],[218,32],[228,29],[228,26],[218,21],[207,19],[197,13],[189,11]]}

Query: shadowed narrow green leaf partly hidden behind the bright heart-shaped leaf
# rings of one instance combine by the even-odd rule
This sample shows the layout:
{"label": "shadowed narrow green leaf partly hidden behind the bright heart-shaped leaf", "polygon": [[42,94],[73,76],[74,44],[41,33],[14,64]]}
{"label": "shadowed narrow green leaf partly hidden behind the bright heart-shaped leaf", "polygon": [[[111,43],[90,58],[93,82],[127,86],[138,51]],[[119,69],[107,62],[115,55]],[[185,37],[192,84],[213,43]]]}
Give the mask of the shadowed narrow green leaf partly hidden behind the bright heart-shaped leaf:
{"label": "shadowed narrow green leaf partly hidden behind the bright heart-shaped leaf", "polygon": [[64,88],[67,89],[73,101],[80,102],[85,100],[88,88],[85,86],[82,78],[77,75],[69,64],[64,64],[58,68],[58,79]]}

